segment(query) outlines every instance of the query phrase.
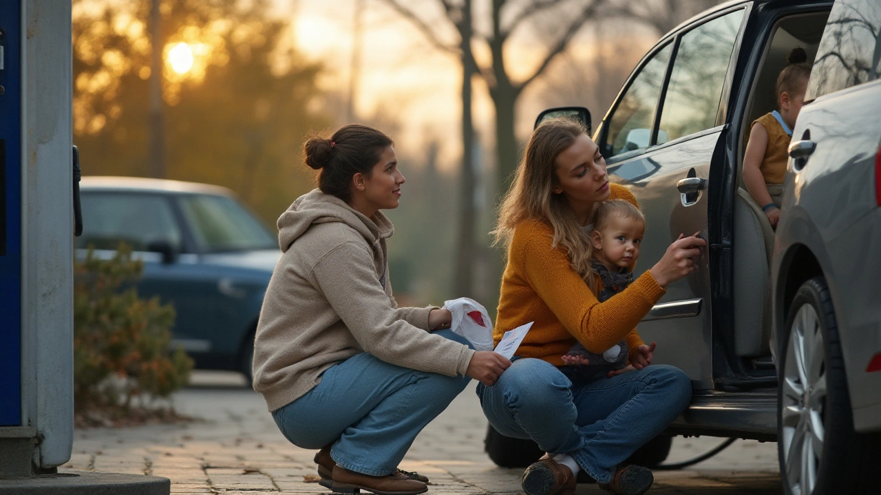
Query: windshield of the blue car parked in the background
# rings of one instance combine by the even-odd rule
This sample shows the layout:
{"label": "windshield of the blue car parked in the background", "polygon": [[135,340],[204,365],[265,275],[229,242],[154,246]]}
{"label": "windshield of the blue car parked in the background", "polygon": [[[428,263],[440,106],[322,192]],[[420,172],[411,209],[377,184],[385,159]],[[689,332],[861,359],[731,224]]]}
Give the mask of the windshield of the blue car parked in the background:
{"label": "windshield of the blue car parked in the background", "polygon": [[250,212],[232,198],[181,196],[181,211],[203,252],[277,249],[278,241]]}

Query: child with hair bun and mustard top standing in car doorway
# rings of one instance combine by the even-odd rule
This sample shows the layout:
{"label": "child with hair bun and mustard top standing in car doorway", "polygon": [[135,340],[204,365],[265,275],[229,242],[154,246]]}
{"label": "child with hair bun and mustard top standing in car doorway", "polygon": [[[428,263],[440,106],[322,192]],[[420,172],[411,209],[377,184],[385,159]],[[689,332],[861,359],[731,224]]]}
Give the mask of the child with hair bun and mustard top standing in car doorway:
{"label": "child with hair bun and mustard top standing in car doorway", "polygon": [[786,176],[789,139],[804,103],[811,64],[804,48],[793,48],[786,57],[789,65],[777,78],[779,110],[762,115],[752,122],[750,140],[744,154],[746,190],[776,229],[780,219],[783,179]]}

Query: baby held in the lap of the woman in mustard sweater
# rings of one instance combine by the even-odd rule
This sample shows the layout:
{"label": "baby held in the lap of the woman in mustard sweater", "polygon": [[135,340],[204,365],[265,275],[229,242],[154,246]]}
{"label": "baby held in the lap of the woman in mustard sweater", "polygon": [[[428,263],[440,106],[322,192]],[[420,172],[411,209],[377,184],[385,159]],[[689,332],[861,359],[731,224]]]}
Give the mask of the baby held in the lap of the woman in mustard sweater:
{"label": "baby held in the lap of the woman in mustard sweater", "polygon": [[[646,230],[646,219],[633,204],[614,199],[600,203],[594,225],[585,228],[591,229],[590,246],[593,248],[596,287],[591,288],[599,288],[596,299],[603,302],[633,282],[631,268],[640,256],[640,242]],[[596,284],[596,278],[600,284]],[[633,330],[631,335],[635,333]],[[640,363],[651,363],[653,351],[655,343],[647,347],[647,350],[640,349]],[[561,366],[560,370],[570,380],[592,380],[623,370],[627,366],[628,356],[626,340],[612,345],[602,354],[588,351],[581,343],[575,343],[563,355],[566,366]],[[584,364],[585,360],[587,364]]]}

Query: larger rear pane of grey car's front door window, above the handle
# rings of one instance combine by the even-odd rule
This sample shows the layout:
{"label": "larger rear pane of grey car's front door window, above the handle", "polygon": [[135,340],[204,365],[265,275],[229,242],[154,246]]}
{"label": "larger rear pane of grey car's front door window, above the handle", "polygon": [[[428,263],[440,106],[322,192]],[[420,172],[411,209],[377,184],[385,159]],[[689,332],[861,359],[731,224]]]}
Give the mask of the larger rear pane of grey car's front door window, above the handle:
{"label": "larger rear pane of grey car's front door window, above the handle", "polygon": [[682,36],[664,97],[658,144],[715,127],[743,18],[743,10],[733,11]]}

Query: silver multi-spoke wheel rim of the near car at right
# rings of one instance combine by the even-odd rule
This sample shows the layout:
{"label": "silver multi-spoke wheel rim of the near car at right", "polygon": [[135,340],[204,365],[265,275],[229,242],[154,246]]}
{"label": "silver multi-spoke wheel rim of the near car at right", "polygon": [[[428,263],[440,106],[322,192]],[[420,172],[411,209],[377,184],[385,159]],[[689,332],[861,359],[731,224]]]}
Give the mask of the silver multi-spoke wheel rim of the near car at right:
{"label": "silver multi-spoke wheel rim of the near car at right", "polygon": [[817,311],[804,304],[789,329],[781,403],[783,460],[788,485],[795,495],[810,495],[817,486],[825,439],[825,370]]}

